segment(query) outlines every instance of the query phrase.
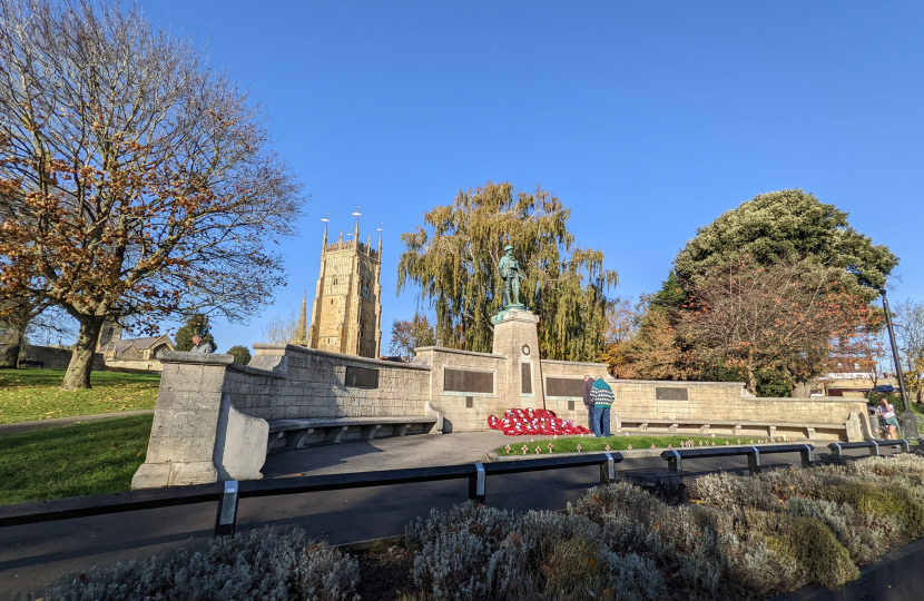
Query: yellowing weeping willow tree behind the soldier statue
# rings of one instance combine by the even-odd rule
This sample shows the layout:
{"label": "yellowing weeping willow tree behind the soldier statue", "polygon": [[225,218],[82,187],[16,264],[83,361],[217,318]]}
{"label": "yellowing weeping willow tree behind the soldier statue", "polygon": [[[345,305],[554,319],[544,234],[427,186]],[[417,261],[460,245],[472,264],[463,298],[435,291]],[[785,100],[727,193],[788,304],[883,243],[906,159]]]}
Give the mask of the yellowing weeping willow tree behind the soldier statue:
{"label": "yellowing weeping willow tree behind the soldier statue", "polygon": [[617,274],[600,250],[581,248],[568,233],[571,210],[537,187],[519,193],[488,183],[461,191],[452,205],[424,215],[427,229],[401,236],[397,293],[413,284],[436,313],[440,344],[490,352],[491,316],[502,309],[498,262],[508,244],[524,268],[520,300],[539,316],[541,356],[598,361],[603,347],[607,292]]}

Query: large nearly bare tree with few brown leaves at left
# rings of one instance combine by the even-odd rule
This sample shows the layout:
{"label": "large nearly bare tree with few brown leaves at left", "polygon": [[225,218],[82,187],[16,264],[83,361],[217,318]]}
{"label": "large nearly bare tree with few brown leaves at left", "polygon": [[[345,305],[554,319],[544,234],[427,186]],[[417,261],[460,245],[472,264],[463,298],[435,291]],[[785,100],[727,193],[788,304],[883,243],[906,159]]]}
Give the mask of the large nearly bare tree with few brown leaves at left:
{"label": "large nearly bare tree with few brown leaves at left", "polygon": [[62,387],[90,386],[104,321],[240,322],[284,283],[266,239],[299,186],[226,71],[137,8],[0,3],[0,293],[79,323]]}

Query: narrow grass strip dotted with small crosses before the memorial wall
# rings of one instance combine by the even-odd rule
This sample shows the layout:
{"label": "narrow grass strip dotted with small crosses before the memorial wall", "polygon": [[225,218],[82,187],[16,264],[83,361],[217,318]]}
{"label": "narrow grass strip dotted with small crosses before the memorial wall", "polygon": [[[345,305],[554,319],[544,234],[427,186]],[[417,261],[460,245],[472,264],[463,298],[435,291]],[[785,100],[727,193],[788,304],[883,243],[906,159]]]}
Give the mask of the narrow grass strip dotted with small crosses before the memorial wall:
{"label": "narrow grass strip dotted with small crosses before the memorial wall", "polygon": [[541,439],[541,440],[533,440],[530,442],[530,439],[527,436],[515,436],[510,439],[510,453],[507,452],[507,445],[499,447],[495,452],[499,455],[522,455],[523,454],[523,445],[525,444],[529,447],[528,454],[535,454],[535,447],[539,446],[542,450],[542,454],[549,454],[549,443],[552,443],[552,453],[574,453],[578,450],[578,445],[581,445],[581,452],[589,452],[589,451],[606,451],[607,445],[610,446],[611,451],[626,451],[629,449],[629,445],[632,449],[651,449],[651,445],[655,445],[655,449],[667,449],[668,445],[672,445],[675,449],[680,447],[680,443],[685,442],[694,442],[694,446],[699,446],[701,442],[704,445],[712,446],[712,443],[716,443],[716,446],[725,446],[725,441],[728,441],[728,444],[757,444],[758,442],[766,441],[765,439],[731,439],[725,436],[716,436],[715,439],[710,436],[610,436],[609,439],[594,439],[593,436],[570,436],[567,439]]}

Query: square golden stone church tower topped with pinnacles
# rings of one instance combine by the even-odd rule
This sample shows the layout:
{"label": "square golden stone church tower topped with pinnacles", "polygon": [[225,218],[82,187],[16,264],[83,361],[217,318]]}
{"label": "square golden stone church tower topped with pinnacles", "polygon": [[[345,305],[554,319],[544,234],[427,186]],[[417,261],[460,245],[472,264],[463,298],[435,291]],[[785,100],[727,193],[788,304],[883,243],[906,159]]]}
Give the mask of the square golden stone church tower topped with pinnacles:
{"label": "square golden stone church tower topped with pinnacles", "polygon": [[321,245],[321,275],[312,307],[308,347],[344,355],[379,358],[382,345],[382,237],[360,242],[360,221],[352,240]]}

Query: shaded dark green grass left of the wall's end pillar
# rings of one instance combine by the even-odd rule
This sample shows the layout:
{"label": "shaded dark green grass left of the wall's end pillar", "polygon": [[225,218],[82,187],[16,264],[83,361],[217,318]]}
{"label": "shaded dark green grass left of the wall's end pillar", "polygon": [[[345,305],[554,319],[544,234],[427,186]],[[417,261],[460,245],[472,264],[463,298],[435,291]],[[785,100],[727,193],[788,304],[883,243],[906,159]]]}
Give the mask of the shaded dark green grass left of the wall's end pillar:
{"label": "shaded dark green grass left of the wall's end pillar", "polygon": [[130,415],[0,436],[0,504],[129,490],[153,421]]}

